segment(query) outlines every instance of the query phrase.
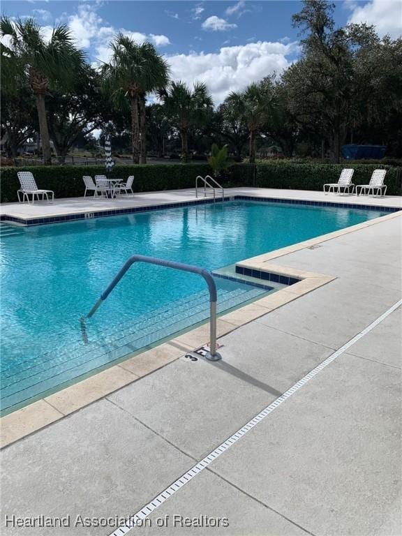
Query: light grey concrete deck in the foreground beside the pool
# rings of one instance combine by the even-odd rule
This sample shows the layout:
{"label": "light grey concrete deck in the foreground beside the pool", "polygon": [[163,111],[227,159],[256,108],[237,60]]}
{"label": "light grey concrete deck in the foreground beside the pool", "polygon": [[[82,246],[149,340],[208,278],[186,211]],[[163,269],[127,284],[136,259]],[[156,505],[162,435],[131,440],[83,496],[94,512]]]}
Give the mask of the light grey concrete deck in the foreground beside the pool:
{"label": "light grey concrete deck in the foreground beside the pool", "polygon": [[[2,533],[109,535],[77,516],[142,509],[385,313],[402,297],[402,219],[390,216],[260,259],[331,281],[223,335],[222,362],[174,358],[3,449]],[[400,535],[401,327],[399,307],[132,533]],[[190,332],[182,353],[199,342]],[[6,527],[13,514],[70,515],[70,528]],[[174,528],[174,515],[229,527]]]}

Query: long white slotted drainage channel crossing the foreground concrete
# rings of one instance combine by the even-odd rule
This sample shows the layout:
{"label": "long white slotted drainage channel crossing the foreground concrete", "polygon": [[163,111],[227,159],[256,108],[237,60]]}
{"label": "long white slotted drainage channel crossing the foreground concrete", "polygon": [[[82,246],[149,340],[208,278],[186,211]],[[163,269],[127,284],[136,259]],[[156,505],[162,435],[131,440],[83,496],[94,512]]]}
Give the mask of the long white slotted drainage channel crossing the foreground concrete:
{"label": "long white slotted drainage channel crossing the foreground concrete", "polygon": [[130,518],[127,519],[126,524],[123,526],[119,526],[116,530],[114,530],[113,533],[111,533],[109,536],[123,536],[127,534],[131,529],[135,528],[136,525],[141,525],[142,520],[149,516],[156,508],[161,506],[165,500],[168,500],[174,493],[179,491],[180,488],[188,484],[188,482],[191,481],[195,476],[198,475],[199,472],[201,472],[203,469],[207,468],[210,463],[212,463],[216,458],[221,456],[223,452],[230,449],[232,445],[234,445],[235,442],[237,442],[243,435],[248,433],[251,429],[254,428],[262,419],[265,419],[271,412],[276,410],[285,400],[289,399],[292,394],[295,394],[301,387],[306,385],[307,382],[309,382],[312,378],[314,378],[315,375],[317,375],[319,372],[321,372],[326,366],[328,366],[330,363],[335,361],[337,357],[339,357],[343,352],[348,350],[350,346],[357,343],[360,338],[364,337],[368,332],[371,332],[372,329],[374,329],[382,320],[385,320],[387,316],[389,316],[391,313],[393,313],[399,306],[402,305],[402,299],[396,302],[392,307],[390,307],[385,313],[383,313],[381,316],[379,316],[374,322],[372,322],[370,325],[368,325],[365,329],[363,329],[362,332],[354,336],[350,339],[346,344],[344,344],[341,348],[336,350],[332,355],[327,357],[325,361],[320,363],[318,366],[313,368],[312,371],[310,371],[308,374],[306,374],[301,380],[299,380],[295,385],[292,385],[288,391],[281,394],[281,396],[278,396],[274,402],[267,405],[265,409],[263,409],[258,415],[255,415],[253,419],[248,421],[247,424],[245,424],[241,429],[239,429],[237,432],[235,432],[233,435],[230,436],[227,440],[225,440],[221,445],[216,447],[212,452],[210,452],[207,456],[205,456],[202,460],[200,460],[198,463],[195,464],[190,470],[184,473],[184,475],[181,475],[173,484],[170,484],[168,488],[164,489],[161,493],[159,493],[158,496],[156,496],[154,499],[152,499],[150,502],[148,502],[147,505],[142,507],[136,514],[133,514]]}

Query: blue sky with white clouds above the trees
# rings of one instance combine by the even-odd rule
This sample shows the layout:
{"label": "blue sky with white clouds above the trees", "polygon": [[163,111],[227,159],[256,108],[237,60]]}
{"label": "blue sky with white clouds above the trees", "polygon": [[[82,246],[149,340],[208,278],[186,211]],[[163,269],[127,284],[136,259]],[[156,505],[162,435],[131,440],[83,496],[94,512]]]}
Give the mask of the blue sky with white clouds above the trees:
{"label": "blue sky with white clouds above the trees", "polygon": [[[301,6],[296,0],[3,0],[1,12],[35,17],[45,36],[54,24],[67,24],[93,64],[107,61],[117,31],[140,43],[149,40],[167,59],[173,80],[205,82],[217,105],[230,91],[280,74],[297,59],[300,36],[292,15]],[[339,26],[374,24],[380,36],[396,38],[402,1],[336,1],[334,18]]]}

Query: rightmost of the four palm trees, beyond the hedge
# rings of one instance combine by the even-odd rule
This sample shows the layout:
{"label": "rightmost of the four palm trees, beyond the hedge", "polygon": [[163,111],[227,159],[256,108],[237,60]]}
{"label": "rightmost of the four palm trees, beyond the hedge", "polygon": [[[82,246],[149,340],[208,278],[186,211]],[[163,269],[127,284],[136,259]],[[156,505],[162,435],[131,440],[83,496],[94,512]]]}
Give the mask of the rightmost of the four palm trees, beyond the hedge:
{"label": "rightmost of the four palm trees, beyond the hedge", "polygon": [[250,131],[249,162],[255,163],[255,141],[261,127],[267,121],[272,106],[272,83],[265,79],[259,83],[252,82],[244,91],[233,91],[225,103],[230,116],[233,114],[243,119]]}

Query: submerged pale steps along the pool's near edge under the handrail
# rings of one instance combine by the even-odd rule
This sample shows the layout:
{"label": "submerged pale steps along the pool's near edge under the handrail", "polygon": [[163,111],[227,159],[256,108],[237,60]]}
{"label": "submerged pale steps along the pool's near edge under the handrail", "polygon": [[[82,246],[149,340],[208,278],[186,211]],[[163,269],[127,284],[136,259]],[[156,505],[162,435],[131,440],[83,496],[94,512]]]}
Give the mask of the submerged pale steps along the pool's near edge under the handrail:
{"label": "submerged pale steps along the pool's near edge under the handrail", "polygon": [[[228,281],[218,282],[218,312],[255,299],[265,291],[251,285],[233,285]],[[209,295],[197,292],[179,299],[169,306],[158,308],[137,318],[102,332],[88,322],[89,343],[83,341],[54,348],[34,359],[18,359],[13,366],[1,370],[1,408],[5,409],[94,371],[116,359],[130,355],[172,336],[182,329],[209,318]]]}

